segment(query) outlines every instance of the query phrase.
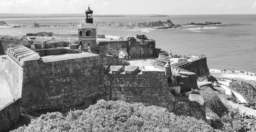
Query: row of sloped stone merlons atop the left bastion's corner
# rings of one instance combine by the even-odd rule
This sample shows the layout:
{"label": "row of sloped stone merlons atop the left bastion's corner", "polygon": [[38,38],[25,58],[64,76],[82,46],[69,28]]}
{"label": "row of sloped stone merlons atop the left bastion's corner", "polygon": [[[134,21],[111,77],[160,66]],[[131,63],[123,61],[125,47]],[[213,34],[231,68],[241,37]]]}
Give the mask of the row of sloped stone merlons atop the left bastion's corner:
{"label": "row of sloped stone merlons atop the left bastion's corner", "polygon": [[8,48],[6,54],[12,58],[20,66],[24,65],[25,61],[39,60],[41,57],[37,52],[25,47],[18,46],[14,48]]}

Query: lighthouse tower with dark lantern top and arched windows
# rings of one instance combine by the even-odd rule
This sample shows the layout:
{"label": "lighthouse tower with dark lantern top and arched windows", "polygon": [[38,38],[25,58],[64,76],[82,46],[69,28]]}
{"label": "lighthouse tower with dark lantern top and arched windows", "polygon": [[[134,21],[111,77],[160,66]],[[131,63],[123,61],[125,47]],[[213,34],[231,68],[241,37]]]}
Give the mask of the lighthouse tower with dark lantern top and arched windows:
{"label": "lighthouse tower with dark lantern top and arched windows", "polygon": [[81,20],[78,26],[78,42],[82,46],[82,49],[88,48],[89,46],[90,48],[97,47],[97,23],[93,22],[92,13],[93,11],[88,6],[88,10],[85,11],[85,21]]}

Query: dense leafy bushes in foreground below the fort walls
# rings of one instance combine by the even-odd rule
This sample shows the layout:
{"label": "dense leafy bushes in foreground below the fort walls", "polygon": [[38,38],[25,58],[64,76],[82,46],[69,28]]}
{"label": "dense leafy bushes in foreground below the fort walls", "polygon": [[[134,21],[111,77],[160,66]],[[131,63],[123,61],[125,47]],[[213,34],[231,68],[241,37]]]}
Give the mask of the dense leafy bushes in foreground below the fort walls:
{"label": "dense leafy bushes in foreground below the fort walls", "polygon": [[99,100],[86,110],[70,111],[67,117],[61,113],[41,115],[29,126],[13,132],[211,132],[202,120],[176,116],[166,108],[144,106],[142,103]]}

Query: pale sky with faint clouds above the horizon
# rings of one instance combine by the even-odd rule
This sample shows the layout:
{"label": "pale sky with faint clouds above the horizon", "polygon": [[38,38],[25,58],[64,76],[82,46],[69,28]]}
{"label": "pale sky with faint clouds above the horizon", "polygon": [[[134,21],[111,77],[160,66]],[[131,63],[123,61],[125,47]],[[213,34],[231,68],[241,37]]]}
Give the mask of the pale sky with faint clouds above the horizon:
{"label": "pale sky with faint clouds above the horizon", "polygon": [[0,0],[0,13],[74,14],[256,14],[256,0]]}

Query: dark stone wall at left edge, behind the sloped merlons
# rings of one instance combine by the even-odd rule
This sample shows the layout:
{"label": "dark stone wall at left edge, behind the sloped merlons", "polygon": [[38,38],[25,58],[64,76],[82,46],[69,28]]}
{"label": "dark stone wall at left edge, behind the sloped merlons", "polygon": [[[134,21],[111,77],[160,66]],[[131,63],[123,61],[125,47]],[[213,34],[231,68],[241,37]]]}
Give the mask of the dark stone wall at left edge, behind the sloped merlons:
{"label": "dark stone wall at left edge, behind the sloped merlons", "polygon": [[0,55],[6,54],[7,48],[21,46],[21,42],[0,40]]}

